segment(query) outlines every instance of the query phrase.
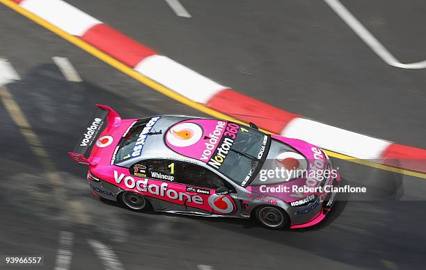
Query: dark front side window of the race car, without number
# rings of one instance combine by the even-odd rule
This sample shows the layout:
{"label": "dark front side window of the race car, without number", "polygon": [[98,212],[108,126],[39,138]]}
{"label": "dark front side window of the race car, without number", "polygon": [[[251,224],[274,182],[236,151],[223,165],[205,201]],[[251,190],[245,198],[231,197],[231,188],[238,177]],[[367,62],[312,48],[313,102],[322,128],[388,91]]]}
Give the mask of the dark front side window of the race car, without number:
{"label": "dark front side window of the race car, without number", "polygon": [[182,177],[179,183],[194,185],[196,187],[207,187],[210,189],[218,189],[219,187],[229,188],[230,186],[220,176],[199,165],[182,162],[181,167]]}

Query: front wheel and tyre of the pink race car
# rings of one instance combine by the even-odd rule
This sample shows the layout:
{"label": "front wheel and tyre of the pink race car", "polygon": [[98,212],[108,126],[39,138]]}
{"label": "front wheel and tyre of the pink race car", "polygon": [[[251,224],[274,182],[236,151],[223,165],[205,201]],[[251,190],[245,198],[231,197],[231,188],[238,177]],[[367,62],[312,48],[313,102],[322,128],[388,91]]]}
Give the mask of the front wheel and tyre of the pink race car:
{"label": "front wheel and tyre of the pink race car", "polygon": [[256,208],[256,219],[262,226],[270,229],[288,228],[290,217],[280,208],[271,205],[264,205]]}

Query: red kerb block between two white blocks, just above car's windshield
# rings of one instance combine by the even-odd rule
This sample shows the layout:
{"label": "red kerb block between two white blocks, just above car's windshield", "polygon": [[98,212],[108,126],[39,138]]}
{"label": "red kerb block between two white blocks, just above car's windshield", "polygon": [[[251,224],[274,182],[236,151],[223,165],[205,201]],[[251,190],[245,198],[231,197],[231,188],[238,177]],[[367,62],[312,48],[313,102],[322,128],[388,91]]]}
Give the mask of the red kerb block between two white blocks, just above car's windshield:
{"label": "red kerb block between two white blocks, just above car's windshield", "polygon": [[206,106],[278,134],[292,119],[299,117],[230,89],[215,94]]}

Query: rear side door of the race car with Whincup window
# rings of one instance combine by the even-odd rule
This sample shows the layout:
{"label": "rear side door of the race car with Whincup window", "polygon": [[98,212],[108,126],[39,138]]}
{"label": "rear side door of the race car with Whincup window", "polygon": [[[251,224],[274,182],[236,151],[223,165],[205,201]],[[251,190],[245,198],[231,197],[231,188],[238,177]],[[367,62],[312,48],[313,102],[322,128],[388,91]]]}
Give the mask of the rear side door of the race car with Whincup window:
{"label": "rear side door of the race car with Whincup window", "polygon": [[188,196],[184,195],[185,186],[178,183],[180,168],[176,160],[152,159],[132,164],[129,171],[135,178],[147,180],[142,194],[149,196],[156,208],[184,211]]}

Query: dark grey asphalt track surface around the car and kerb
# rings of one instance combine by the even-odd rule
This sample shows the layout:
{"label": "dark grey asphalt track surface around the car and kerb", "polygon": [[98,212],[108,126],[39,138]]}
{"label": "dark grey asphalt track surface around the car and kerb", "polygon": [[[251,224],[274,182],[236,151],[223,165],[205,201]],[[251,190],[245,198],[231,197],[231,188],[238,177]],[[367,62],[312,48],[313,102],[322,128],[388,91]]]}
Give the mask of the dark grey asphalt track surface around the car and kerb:
{"label": "dark grey asphalt track surface around the car and kerb", "polygon": [[[111,1],[109,6],[70,1],[244,94],[327,124],[425,148],[425,69],[387,66],[325,3],[181,2],[192,18],[176,17],[162,1]],[[405,6],[406,20],[396,23],[392,20],[404,11],[401,7],[382,10],[383,1],[366,2],[344,3],[366,26],[374,26],[371,18],[381,18],[376,21],[384,26],[370,31],[400,60],[424,60],[425,40],[416,29],[423,30],[418,10],[426,5],[407,4],[412,8]],[[54,269],[59,234],[67,231],[74,234],[71,269],[105,268],[90,239],[107,244],[123,269],[424,265],[425,181],[342,160],[335,163],[345,180],[370,192],[338,201],[315,228],[277,232],[246,221],[131,212],[99,201],[84,180],[85,168],[66,155],[95,103],[116,108],[123,118],[200,112],[133,81],[4,6],[0,18],[0,55],[22,77],[6,87],[54,160],[68,194],[66,205],[52,199],[55,187],[47,182],[47,172],[0,106],[1,255],[45,255],[44,268]],[[53,56],[69,58],[83,82],[66,81]],[[74,201],[84,205],[89,219],[70,214]]]}

